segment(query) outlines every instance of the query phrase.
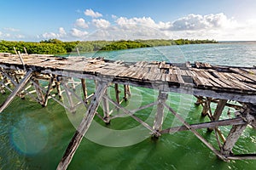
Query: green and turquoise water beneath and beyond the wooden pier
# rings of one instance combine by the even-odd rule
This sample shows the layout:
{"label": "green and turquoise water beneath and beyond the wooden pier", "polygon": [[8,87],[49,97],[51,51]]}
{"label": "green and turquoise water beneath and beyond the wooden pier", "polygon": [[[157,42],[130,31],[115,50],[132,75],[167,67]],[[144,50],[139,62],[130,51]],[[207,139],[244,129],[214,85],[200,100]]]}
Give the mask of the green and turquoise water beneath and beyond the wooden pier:
{"label": "green and turquoise water beneath and beyond the wooden pier", "polygon": [[[189,60],[214,65],[256,65],[256,43],[219,43],[184,45],[158,48],[139,48],[113,52],[84,54],[106,59],[137,61],[166,60],[184,62]],[[90,92],[94,85],[88,82]],[[79,90],[78,90],[79,91]],[[79,92],[78,92],[79,93]],[[113,88],[108,93],[113,96]],[[131,88],[131,99],[122,105],[129,110],[154,102],[157,92],[151,89]],[[0,102],[8,97],[2,95]],[[65,98],[64,98],[65,100]],[[169,94],[168,104],[187,122],[206,122],[201,118],[201,106],[194,105],[195,98],[188,94]],[[214,105],[212,105],[213,108]],[[110,105],[113,108],[112,105]],[[148,124],[154,121],[155,107],[139,111]],[[222,118],[227,118],[225,108]],[[233,110],[231,110],[233,111]],[[75,127],[84,114],[79,108],[75,115],[50,100],[46,108],[32,99],[16,98],[0,115],[0,169],[55,169],[67,144],[73,137]],[[102,112],[101,107],[99,112]],[[119,114],[122,113],[119,111]],[[113,115],[118,111],[113,111]],[[181,125],[171,113],[165,111],[164,128]],[[220,127],[227,135],[230,127]],[[214,133],[199,130],[214,146]],[[247,127],[236,143],[235,153],[253,153],[256,149],[256,131]],[[98,117],[90,127],[73,157],[68,169],[255,169],[256,161],[219,161],[193,133],[164,134],[159,140],[149,138],[149,131],[125,116],[114,119],[105,126]]]}

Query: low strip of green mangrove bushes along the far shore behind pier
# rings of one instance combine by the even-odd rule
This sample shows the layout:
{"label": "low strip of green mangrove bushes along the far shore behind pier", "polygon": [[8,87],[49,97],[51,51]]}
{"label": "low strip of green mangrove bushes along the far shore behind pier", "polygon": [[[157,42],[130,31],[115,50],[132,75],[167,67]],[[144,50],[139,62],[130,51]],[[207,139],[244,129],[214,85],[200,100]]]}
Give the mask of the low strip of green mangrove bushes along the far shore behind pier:
{"label": "low strip of green mangrove bushes along the far shore behind pier", "polygon": [[[93,51],[112,51],[130,48],[149,48],[158,46],[184,45],[184,44],[201,44],[201,43],[218,43],[215,40],[119,40],[119,41],[75,41],[62,42],[58,39],[49,39],[41,42],[10,42],[0,41],[0,53],[15,54],[16,51],[27,54],[68,54],[75,53],[77,48],[80,53]],[[14,49],[15,47],[15,49]],[[26,50],[26,51],[25,51]]]}

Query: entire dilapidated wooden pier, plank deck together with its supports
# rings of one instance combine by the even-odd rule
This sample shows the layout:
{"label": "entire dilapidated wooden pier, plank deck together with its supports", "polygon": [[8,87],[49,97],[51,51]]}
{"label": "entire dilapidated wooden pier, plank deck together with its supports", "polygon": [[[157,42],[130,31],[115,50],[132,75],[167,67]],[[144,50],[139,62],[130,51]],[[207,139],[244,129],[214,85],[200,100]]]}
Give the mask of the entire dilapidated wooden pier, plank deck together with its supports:
{"label": "entire dilapidated wooden pier, plank deck together with its supports", "polygon": [[[76,86],[74,79],[79,80],[82,86],[82,96],[74,92]],[[87,80],[93,80],[96,83],[95,93],[88,94],[86,90]],[[115,88],[115,99],[111,99],[107,93],[112,84]],[[120,85],[124,89],[125,101],[131,95],[130,86],[153,88],[159,91],[159,96],[157,101],[151,104],[140,105],[137,110],[128,111],[120,105],[123,102],[123,100],[120,101],[119,96]],[[247,155],[234,155],[232,153],[232,149],[243,130],[247,126],[256,127],[255,67],[219,66],[200,62],[195,62],[195,64],[160,61],[132,63],[103,58],[0,54],[0,93],[4,94],[6,91],[9,91],[10,94],[0,105],[0,113],[10,105],[15,96],[30,97],[43,106],[47,106],[48,100],[53,99],[73,113],[75,113],[78,105],[86,107],[84,109],[86,111],[85,116],[67,146],[57,169],[66,169],[72,161],[73,155],[78,149],[84,133],[90,127],[94,116],[101,117],[102,121],[106,123],[118,117],[111,115],[112,111],[109,111],[109,104],[114,105],[148,128],[155,138],[159,138],[164,133],[189,130],[224,161],[256,159],[256,154],[253,153]],[[194,95],[197,98],[195,105],[203,106],[201,116],[209,116],[211,121],[196,124],[186,122],[177,111],[166,104],[170,92]],[[62,102],[62,93],[67,94],[68,105]],[[75,103],[73,98],[79,100],[79,103]],[[237,105],[230,103],[230,101],[236,101]],[[103,105],[102,116],[97,112],[101,102]],[[217,103],[213,113],[211,103]],[[157,111],[153,126],[150,126],[135,116],[135,113],[153,105],[157,107]],[[233,107],[236,112],[232,118],[219,120],[224,107]],[[182,122],[183,126],[163,129],[163,111],[165,108]],[[218,127],[230,125],[232,126],[230,133],[224,137]],[[204,139],[196,131],[199,128],[207,128],[209,132],[214,131],[218,148],[214,148],[207,139]]]}

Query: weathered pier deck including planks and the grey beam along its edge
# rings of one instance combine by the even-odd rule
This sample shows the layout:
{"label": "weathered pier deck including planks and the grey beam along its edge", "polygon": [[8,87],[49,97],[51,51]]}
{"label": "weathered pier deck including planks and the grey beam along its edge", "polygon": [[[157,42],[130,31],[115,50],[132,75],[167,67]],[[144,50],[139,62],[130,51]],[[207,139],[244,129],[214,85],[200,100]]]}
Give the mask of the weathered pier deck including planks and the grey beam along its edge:
{"label": "weathered pier deck including planks and the grey beam along its edge", "polygon": [[[8,56],[8,57],[6,57]],[[190,65],[139,61],[136,63],[102,58],[23,55],[26,69],[64,77],[108,79],[145,88],[256,103],[256,67]],[[0,54],[0,67],[20,67],[17,55]],[[193,89],[191,89],[193,88]]]}

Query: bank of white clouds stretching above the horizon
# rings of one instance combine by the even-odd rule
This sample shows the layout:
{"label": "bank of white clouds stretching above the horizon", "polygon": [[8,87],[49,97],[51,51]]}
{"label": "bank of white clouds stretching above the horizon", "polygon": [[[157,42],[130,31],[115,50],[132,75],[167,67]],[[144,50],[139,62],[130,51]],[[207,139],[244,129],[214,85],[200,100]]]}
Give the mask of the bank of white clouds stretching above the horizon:
{"label": "bank of white clouds stretching above the horizon", "polygon": [[[86,18],[86,19],[85,19]],[[72,23],[71,23],[72,24]],[[116,16],[86,9],[84,17],[73,21],[70,28],[58,28],[56,32],[44,32],[38,39],[61,40],[119,40],[119,39],[216,39],[255,40],[256,20],[238,23],[234,18],[219,14],[188,14],[177,20],[156,21],[151,17]],[[66,31],[67,30],[67,31]],[[15,28],[0,30],[0,38],[19,37]],[[20,35],[20,38],[24,36]]]}

